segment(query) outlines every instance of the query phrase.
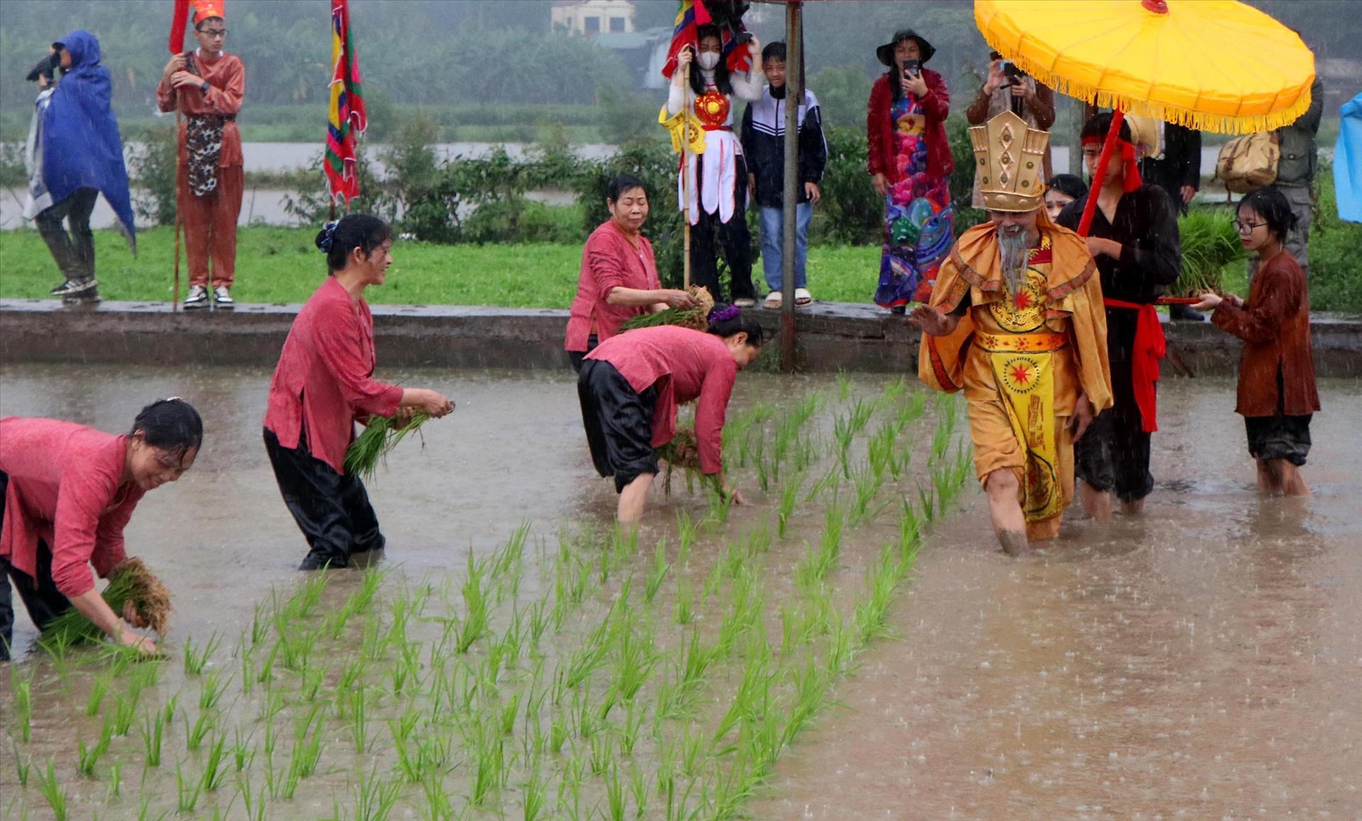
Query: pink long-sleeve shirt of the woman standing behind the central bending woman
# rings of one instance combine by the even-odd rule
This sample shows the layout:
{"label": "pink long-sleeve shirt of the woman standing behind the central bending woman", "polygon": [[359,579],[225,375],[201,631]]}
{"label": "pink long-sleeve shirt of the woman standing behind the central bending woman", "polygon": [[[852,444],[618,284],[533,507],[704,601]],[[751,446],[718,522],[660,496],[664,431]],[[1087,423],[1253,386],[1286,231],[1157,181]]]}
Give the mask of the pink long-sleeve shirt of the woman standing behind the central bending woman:
{"label": "pink long-sleeve shirt of the woman standing behind the central bending woman", "polygon": [[601,223],[591,231],[586,248],[582,249],[582,274],[577,276],[577,295],[568,312],[568,332],[563,347],[569,351],[586,351],[591,325],[595,324],[597,342],[605,342],[620,332],[620,324],[643,313],[647,308],[632,305],[610,305],[610,291],[617,287],[658,290],[658,264],[652,257],[652,245],[639,237],[635,248],[613,219]]}

